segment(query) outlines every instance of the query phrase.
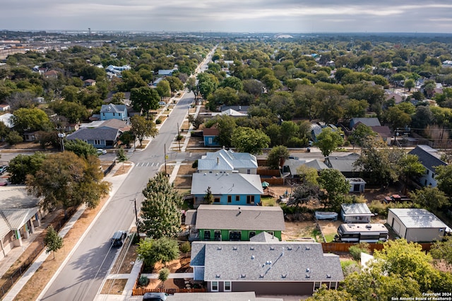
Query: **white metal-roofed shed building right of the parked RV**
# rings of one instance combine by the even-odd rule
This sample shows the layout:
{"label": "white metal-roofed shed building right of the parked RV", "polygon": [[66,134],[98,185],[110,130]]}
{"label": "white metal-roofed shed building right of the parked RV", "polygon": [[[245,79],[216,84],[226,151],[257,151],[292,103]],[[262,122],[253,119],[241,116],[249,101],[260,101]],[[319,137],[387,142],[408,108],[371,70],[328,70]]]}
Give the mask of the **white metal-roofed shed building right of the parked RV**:
{"label": "white metal-roofed shed building right of the parked RV", "polygon": [[417,208],[390,208],[387,223],[408,242],[442,240],[447,228],[433,213]]}

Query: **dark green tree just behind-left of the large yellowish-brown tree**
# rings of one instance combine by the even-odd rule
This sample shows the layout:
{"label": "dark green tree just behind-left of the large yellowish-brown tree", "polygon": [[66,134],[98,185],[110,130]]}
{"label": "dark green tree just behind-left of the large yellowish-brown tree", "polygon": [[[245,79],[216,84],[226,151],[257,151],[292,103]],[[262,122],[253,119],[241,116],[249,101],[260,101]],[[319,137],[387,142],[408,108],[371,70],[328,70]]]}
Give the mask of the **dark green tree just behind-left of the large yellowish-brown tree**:
{"label": "dark green tree just behind-left of the large yellowish-brown tree", "polygon": [[35,175],[41,169],[42,161],[46,155],[36,152],[32,155],[18,154],[8,163],[9,181],[11,184],[25,184],[27,175]]}

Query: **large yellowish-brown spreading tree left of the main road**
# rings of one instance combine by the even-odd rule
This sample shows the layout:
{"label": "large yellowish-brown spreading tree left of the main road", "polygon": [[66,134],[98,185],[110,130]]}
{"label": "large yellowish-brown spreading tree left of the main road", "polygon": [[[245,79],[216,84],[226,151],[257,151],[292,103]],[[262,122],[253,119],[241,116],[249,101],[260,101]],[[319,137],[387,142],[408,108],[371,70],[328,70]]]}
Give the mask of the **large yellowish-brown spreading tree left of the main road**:
{"label": "large yellowish-brown spreading tree left of the main road", "polygon": [[67,208],[82,203],[95,208],[111,186],[102,181],[104,175],[99,165],[99,158],[95,156],[85,160],[72,152],[48,155],[40,170],[27,176],[28,192],[43,197],[44,209],[62,206],[65,218]]}

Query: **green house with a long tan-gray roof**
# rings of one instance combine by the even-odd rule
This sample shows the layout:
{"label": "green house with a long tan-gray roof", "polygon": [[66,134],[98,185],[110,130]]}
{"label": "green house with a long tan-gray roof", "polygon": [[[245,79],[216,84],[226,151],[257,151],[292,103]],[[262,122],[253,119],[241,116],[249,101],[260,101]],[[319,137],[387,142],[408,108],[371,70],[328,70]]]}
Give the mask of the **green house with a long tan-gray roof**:
{"label": "green house with a long tan-gray roof", "polygon": [[187,223],[194,225],[201,240],[250,240],[261,232],[281,240],[285,230],[284,213],[278,206],[200,205]]}

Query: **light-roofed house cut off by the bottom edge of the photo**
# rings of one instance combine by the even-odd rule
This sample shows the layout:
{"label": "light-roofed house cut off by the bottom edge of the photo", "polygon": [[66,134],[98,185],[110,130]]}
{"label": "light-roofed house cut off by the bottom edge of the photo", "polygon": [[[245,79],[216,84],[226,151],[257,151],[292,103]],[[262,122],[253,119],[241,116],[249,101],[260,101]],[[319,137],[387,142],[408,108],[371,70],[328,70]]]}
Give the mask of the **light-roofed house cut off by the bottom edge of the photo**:
{"label": "light-roofed house cut off by the bottom edge of the photo", "polygon": [[284,301],[281,298],[256,297],[254,292],[174,293],[166,301]]}

